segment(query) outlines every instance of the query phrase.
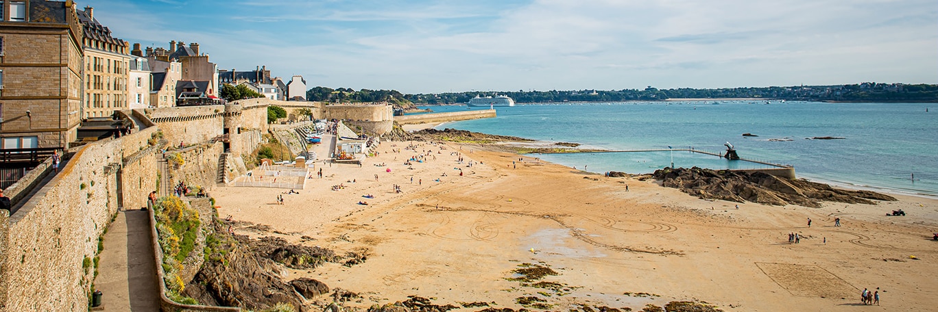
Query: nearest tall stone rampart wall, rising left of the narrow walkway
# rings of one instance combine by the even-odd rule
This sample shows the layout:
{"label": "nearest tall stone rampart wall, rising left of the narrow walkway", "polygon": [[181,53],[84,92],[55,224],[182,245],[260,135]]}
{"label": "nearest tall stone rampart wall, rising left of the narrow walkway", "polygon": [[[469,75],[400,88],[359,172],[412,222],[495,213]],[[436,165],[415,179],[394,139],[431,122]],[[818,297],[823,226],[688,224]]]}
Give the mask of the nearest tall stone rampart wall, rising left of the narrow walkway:
{"label": "nearest tall stone rampart wall, rising left of the narrow walkway", "polygon": [[0,271],[6,311],[87,308],[90,262],[117,211],[121,145],[107,139],[76,148],[61,171],[9,217]]}

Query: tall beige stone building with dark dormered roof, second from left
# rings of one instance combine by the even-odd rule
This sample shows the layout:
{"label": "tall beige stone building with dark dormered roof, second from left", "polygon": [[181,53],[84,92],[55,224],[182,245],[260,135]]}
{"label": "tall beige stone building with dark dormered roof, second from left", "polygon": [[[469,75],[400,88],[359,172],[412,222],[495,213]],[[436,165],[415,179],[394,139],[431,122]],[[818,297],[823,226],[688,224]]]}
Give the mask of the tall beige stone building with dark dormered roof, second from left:
{"label": "tall beige stone building with dark dormered roof, second from left", "polygon": [[84,108],[82,118],[106,117],[129,108],[130,47],[95,19],[94,7],[78,10],[84,30]]}

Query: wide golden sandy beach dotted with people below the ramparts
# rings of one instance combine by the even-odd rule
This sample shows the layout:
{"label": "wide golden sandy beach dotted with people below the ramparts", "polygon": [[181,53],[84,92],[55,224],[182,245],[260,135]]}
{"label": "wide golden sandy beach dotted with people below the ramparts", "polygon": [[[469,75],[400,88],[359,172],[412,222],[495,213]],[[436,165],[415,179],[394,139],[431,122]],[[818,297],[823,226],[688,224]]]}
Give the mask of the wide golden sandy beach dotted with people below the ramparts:
{"label": "wide golden sandy beach dotted with people below the ramparts", "polygon": [[[704,201],[652,180],[484,146],[415,141],[406,149],[410,143],[385,141],[360,168],[317,162],[324,177],[313,174],[283,205],[275,199],[286,189],[227,186],[212,195],[219,215],[238,221],[238,234],[366,251],[360,264],[287,277],[358,292],[350,305],[361,307],[416,295],[514,309],[523,307],[517,298],[533,296],[557,311],[671,301],[724,311],[924,311],[938,296],[934,199],[821,208]],[[418,155],[423,162],[403,164]],[[337,185],[345,187],[331,190]],[[895,209],[908,215],[885,216]],[[788,242],[793,232],[799,244]],[[541,287],[509,280],[524,263],[557,275]],[[860,292],[877,288],[880,306],[861,305]]]}

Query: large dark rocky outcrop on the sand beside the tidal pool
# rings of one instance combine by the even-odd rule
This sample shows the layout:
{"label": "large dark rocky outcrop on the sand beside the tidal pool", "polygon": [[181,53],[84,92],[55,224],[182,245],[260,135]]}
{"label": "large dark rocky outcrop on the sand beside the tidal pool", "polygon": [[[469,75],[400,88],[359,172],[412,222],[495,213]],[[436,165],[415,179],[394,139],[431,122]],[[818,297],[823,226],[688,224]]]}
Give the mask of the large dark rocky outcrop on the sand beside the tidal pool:
{"label": "large dark rocky outcrop on the sand beside the tidal pool", "polygon": [[708,200],[796,204],[820,207],[821,201],[876,204],[895,198],[865,190],[845,190],[807,180],[788,180],[763,172],[713,171],[701,168],[658,170],[652,174],[662,186]]}

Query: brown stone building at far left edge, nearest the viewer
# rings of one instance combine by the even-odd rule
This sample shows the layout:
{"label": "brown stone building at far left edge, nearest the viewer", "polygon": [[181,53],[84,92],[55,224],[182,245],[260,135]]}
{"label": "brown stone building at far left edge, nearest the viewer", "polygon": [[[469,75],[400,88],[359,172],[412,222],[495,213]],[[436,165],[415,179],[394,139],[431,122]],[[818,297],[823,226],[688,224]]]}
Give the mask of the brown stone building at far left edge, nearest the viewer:
{"label": "brown stone building at far left edge, nearest the viewer", "polygon": [[67,148],[83,104],[76,9],[70,1],[23,0],[0,2],[0,12],[0,147]]}

